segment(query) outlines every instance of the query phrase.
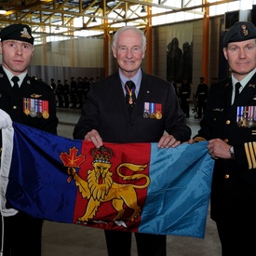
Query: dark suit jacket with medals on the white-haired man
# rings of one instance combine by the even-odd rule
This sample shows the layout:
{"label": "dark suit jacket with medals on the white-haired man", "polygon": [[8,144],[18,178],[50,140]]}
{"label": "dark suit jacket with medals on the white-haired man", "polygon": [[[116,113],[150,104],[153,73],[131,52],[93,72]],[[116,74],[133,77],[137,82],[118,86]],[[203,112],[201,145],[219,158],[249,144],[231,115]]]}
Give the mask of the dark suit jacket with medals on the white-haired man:
{"label": "dark suit jacket with medals on the white-haired man", "polygon": [[[145,115],[145,105],[158,106],[160,115]],[[156,105],[157,103],[157,105]],[[185,125],[174,88],[154,75],[142,74],[141,88],[131,117],[119,74],[93,85],[82,115],[74,128],[74,139],[85,138],[96,129],[105,142],[158,142],[166,130],[179,141],[187,141],[191,129]]]}

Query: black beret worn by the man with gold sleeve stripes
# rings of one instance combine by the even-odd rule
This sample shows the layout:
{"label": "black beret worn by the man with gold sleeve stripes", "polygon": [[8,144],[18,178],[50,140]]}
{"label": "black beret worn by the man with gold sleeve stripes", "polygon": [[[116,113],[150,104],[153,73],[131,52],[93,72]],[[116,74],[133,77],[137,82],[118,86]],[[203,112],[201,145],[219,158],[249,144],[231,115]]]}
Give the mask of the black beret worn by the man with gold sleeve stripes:
{"label": "black beret worn by the man with gold sleeve stripes", "polygon": [[224,35],[222,46],[256,38],[256,27],[249,21],[236,22]]}

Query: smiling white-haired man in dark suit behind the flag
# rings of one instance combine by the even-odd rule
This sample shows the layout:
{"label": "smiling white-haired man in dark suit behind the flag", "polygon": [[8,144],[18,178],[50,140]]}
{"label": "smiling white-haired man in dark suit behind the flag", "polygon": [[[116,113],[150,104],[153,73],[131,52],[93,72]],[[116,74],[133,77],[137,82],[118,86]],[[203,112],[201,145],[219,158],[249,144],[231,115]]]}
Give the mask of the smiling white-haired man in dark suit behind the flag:
{"label": "smiling white-haired man in dark suit behind the flag", "polygon": [[[169,148],[190,138],[174,88],[141,70],[145,49],[145,35],[136,27],[125,26],[115,33],[112,50],[118,72],[90,88],[74,139],[92,141],[97,148],[103,141],[157,142],[159,148]],[[131,233],[104,232],[109,256],[130,255]],[[166,236],[135,237],[138,255],[167,255]]]}

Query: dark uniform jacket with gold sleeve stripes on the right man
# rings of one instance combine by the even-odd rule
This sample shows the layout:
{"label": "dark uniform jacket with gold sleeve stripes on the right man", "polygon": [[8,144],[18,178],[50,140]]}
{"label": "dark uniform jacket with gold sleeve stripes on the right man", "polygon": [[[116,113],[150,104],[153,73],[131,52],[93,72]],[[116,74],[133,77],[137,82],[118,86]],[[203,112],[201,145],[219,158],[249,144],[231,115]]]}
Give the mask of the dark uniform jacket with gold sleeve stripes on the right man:
{"label": "dark uniform jacket with gold sleeve stripes on the right man", "polygon": [[235,160],[215,160],[210,203],[211,218],[217,222],[256,216],[256,75],[233,105],[232,89],[231,78],[210,89],[206,114],[195,136],[234,145]]}

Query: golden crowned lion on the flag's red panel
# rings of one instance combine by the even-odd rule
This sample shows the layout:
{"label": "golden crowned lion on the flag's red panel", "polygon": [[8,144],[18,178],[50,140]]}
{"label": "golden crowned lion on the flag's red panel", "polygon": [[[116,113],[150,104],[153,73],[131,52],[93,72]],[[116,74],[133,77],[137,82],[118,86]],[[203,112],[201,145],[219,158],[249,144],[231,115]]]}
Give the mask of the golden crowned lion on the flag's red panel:
{"label": "golden crowned lion on the flag's red panel", "polygon": [[[88,222],[93,219],[101,203],[108,201],[112,201],[112,206],[117,211],[113,221],[119,220],[124,214],[125,209],[123,208],[123,204],[126,204],[128,208],[134,210],[133,214],[128,218],[128,220],[133,221],[141,213],[141,207],[137,203],[135,189],[146,188],[150,184],[150,179],[146,174],[142,173],[123,175],[120,172],[120,168],[128,168],[138,172],[146,168],[147,165],[120,164],[116,168],[116,173],[119,177],[123,178],[124,181],[145,179],[145,183],[142,185],[120,184],[113,181],[113,172],[110,171],[112,164],[109,162],[109,159],[106,161],[105,155],[103,157],[104,161],[101,161],[101,157],[98,157],[98,160],[92,162],[93,169],[88,170],[88,181],[83,180],[79,174],[76,173],[75,168],[68,168],[68,174],[73,178],[79,192],[83,198],[88,198],[85,214],[78,218],[78,222]],[[95,157],[95,159],[96,158],[97,157]]]}

